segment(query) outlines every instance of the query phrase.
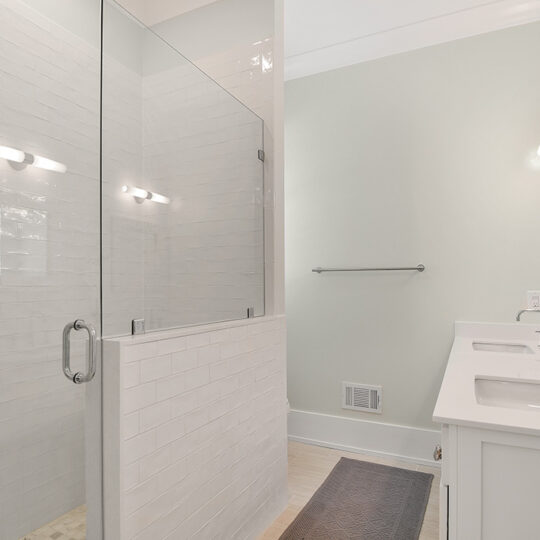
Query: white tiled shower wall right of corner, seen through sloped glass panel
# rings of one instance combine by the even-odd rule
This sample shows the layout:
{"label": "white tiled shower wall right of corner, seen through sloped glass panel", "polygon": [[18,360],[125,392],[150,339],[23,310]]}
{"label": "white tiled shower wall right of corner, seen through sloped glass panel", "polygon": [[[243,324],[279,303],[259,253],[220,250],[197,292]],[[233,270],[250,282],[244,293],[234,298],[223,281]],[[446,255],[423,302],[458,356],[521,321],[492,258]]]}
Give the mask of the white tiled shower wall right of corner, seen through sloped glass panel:
{"label": "white tiled shower wall right of corner, seen through sloped glass panel", "polygon": [[172,201],[149,208],[148,327],[263,314],[261,120],[178,57],[144,76],[143,124],[145,181]]}

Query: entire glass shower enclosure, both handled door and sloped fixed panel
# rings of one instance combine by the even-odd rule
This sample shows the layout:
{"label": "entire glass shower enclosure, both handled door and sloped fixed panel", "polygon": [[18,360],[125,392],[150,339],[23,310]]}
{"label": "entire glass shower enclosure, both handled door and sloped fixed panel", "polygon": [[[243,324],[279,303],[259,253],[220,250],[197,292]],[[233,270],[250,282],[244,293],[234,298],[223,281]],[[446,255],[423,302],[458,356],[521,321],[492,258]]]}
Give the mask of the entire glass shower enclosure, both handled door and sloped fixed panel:
{"label": "entire glass shower enclosure, both handled door and sloped fixed panel", "polygon": [[0,540],[100,539],[101,340],[264,314],[263,124],[111,1],[0,0],[0,72]]}

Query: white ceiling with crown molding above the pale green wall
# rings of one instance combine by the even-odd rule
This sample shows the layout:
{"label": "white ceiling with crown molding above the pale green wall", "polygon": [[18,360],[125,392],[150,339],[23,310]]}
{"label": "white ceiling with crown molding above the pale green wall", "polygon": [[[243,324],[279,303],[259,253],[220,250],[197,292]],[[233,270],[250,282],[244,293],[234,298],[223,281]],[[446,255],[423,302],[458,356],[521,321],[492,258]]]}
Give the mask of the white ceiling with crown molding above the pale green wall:
{"label": "white ceiling with crown molding above the pale green wall", "polygon": [[540,0],[285,0],[285,78],[540,19]]}

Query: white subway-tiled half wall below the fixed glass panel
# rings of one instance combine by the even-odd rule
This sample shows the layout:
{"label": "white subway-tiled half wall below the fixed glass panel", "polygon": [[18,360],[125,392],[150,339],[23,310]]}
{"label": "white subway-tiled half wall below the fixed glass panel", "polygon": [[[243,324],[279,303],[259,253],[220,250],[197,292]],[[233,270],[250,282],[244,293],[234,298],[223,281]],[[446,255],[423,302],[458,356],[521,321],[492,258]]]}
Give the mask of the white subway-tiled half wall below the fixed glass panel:
{"label": "white subway-tiled half wall below the fixed glass panel", "polygon": [[284,318],[130,340],[106,340],[107,532],[255,538],[287,501]]}

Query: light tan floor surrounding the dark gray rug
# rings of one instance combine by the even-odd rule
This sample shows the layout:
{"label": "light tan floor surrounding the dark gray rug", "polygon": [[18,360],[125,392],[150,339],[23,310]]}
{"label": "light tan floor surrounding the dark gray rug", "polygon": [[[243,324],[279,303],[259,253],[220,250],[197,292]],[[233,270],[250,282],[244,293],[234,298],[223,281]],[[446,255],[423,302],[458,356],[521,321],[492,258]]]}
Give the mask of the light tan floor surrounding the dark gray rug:
{"label": "light tan floor surrounding the dark gray rug", "polygon": [[435,475],[431,485],[431,494],[426,509],[420,540],[438,540],[439,538],[439,482],[440,469],[425,467],[391,458],[352,454],[320,446],[310,446],[289,442],[289,505],[274,521],[259,540],[277,540],[293,521],[298,512],[309,501],[313,493],[323,483],[334,465],[341,457],[362,459],[373,463],[430,472]]}

